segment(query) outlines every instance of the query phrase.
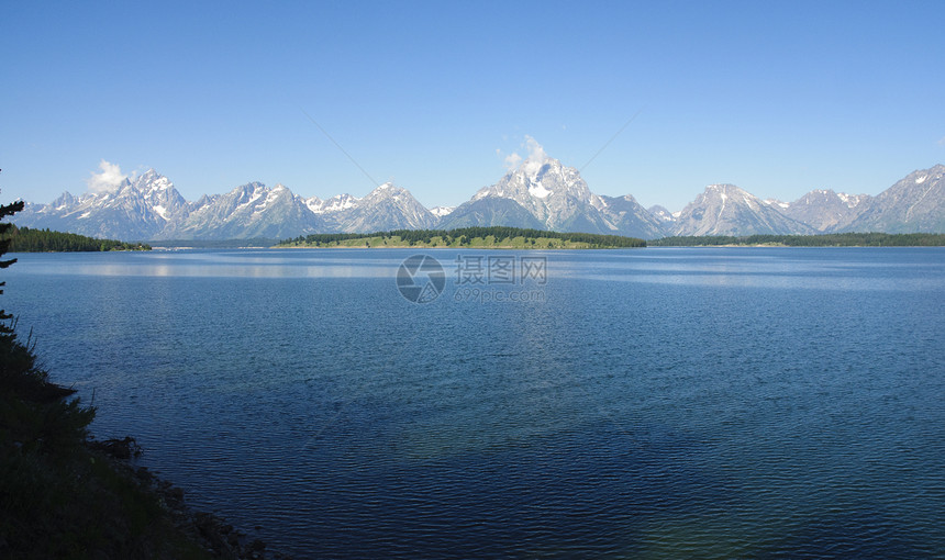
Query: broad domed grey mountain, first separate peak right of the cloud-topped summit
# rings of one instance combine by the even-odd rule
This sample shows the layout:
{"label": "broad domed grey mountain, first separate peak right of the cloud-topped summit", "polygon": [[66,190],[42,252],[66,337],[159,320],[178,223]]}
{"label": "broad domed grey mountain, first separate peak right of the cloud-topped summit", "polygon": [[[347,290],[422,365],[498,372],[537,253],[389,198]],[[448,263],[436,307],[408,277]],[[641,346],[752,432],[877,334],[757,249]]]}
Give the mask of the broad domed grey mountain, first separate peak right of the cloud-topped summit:
{"label": "broad domed grey mountain, first separate peak right of the cloud-topped summit", "polygon": [[672,227],[674,235],[808,235],[812,227],[791,220],[776,205],[734,184],[710,184],[687,204]]}

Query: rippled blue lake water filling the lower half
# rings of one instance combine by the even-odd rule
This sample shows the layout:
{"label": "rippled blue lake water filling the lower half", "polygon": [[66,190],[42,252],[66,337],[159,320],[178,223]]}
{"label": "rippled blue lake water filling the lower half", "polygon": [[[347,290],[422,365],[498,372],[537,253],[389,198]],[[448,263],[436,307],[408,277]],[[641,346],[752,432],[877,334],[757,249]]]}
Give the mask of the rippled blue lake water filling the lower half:
{"label": "rippled blue lake water filling the lower half", "polygon": [[424,304],[413,253],[18,255],[0,306],[301,558],[945,557],[945,250],[427,250]]}

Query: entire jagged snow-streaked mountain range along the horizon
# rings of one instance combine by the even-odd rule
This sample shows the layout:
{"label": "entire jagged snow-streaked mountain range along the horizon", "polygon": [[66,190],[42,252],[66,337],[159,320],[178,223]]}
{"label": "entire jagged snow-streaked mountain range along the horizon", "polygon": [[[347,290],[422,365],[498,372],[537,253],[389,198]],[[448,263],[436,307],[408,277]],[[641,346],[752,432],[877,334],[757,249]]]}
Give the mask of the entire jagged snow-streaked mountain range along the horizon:
{"label": "entire jagged snow-streaked mountain range along the horizon", "polygon": [[302,198],[259,182],[188,202],[154,169],[109,190],[27,203],[16,224],[124,240],[288,238],[311,233],[507,225],[625,235],[945,233],[945,166],[913,171],[876,197],[814,190],[793,202],[710,184],[679,212],[591,192],[577,169],[542,154],[456,208],[426,209],[385,183],[364,198]]}

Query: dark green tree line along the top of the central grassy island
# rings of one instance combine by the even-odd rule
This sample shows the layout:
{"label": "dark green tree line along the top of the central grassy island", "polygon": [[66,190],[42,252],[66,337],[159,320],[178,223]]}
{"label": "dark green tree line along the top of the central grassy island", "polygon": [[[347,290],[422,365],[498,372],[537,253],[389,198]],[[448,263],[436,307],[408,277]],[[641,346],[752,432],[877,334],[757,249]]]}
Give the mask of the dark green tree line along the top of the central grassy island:
{"label": "dark green tree line along the top of the central grassy island", "polygon": [[390,239],[399,237],[401,240],[410,245],[423,243],[430,244],[434,237],[438,237],[446,244],[458,243],[458,245],[469,245],[472,239],[493,237],[496,243],[501,243],[505,239],[514,237],[523,237],[525,243],[534,242],[538,238],[560,239],[571,243],[586,243],[597,247],[646,247],[646,242],[636,237],[624,237],[621,235],[601,235],[589,233],[570,233],[570,232],[551,232],[544,229],[529,229],[521,227],[509,226],[491,226],[491,227],[459,227],[456,229],[392,229],[390,232],[375,232],[371,234],[352,234],[352,233],[333,233],[333,234],[311,234],[300,235],[293,239],[280,242],[280,245],[291,243],[322,245],[349,239],[365,239],[370,237],[380,237]]}

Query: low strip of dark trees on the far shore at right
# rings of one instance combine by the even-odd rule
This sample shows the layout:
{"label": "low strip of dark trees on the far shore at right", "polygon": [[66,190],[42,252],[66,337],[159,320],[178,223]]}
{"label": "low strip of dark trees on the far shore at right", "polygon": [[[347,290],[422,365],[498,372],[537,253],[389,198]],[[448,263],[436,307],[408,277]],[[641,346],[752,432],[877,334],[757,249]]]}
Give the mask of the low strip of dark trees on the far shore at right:
{"label": "low strip of dark trees on the far shore at right", "polygon": [[664,237],[651,247],[942,247],[945,234],[843,233],[822,235],[704,235]]}

